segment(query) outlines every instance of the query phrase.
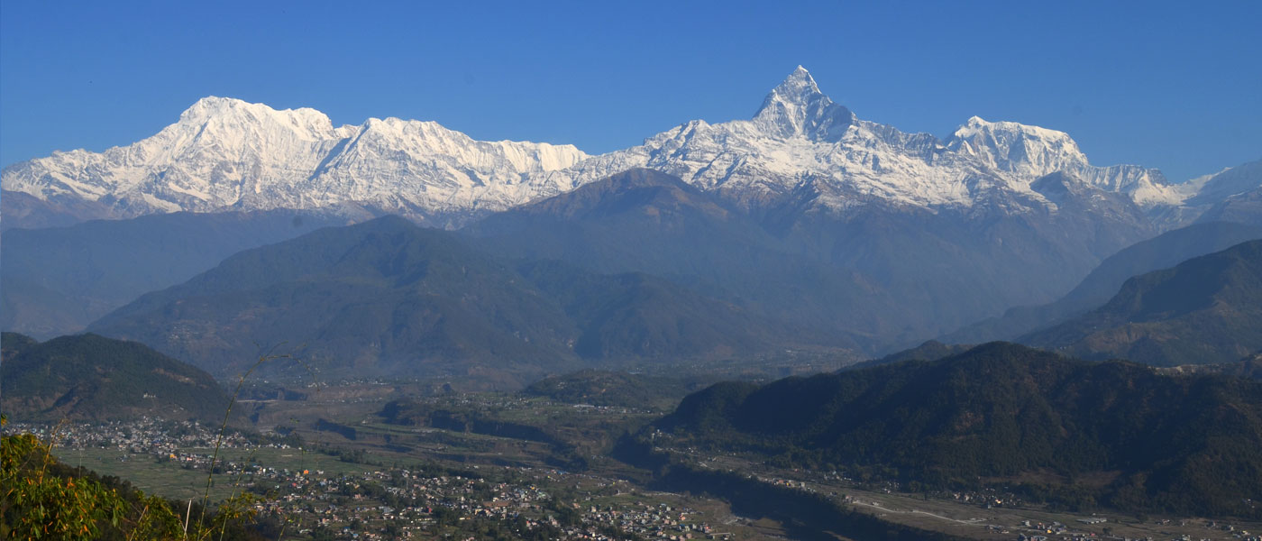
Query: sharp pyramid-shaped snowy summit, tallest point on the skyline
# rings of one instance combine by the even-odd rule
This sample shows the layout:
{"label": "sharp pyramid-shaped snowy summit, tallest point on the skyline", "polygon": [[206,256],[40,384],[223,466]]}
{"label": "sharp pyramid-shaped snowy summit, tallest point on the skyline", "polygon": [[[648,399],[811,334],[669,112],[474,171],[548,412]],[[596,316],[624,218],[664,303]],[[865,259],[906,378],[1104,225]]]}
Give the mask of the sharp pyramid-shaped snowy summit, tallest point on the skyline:
{"label": "sharp pyramid-shaped snowy summit, tallest point on the skyline", "polygon": [[799,66],[762,101],[753,124],[779,139],[832,143],[854,124],[854,113],[824,96],[810,72]]}

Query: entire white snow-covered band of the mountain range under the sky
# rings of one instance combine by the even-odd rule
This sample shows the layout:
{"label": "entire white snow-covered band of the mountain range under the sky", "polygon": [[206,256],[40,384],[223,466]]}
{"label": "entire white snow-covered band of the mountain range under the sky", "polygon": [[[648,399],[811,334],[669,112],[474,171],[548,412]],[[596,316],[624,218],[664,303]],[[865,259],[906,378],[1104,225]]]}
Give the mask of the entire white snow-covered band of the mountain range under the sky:
{"label": "entire white snow-covered band of the mountain range under the sky", "polygon": [[832,211],[883,202],[968,207],[993,193],[1056,204],[1031,184],[1064,173],[1145,209],[1177,207],[1204,184],[1155,169],[1094,166],[1069,135],[969,119],[946,140],[859,120],[798,67],[751,120],[694,120],[640,146],[589,156],[573,145],[476,141],[435,122],[370,119],[334,127],[310,110],[207,97],[156,135],[103,153],[14,164],[4,190],[88,201],[114,216],[173,211],[370,207],[456,224],[650,168],[747,207],[806,189]]}

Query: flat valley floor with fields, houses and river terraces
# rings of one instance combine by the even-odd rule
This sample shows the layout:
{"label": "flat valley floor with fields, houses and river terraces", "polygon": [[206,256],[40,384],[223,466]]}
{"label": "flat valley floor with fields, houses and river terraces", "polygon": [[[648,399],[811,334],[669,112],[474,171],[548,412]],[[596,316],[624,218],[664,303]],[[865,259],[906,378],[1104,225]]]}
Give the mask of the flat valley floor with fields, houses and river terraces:
{"label": "flat valley floor with fields, houses and river terraces", "polygon": [[[283,520],[286,538],[849,538],[762,513],[757,504],[703,486],[663,491],[651,472],[606,455],[615,431],[660,412],[504,393],[425,398],[434,407],[548,426],[567,439],[560,445],[389,424],[377,412],[396,395],[370,388],[342,386],[305,400],[244,401],[256,420],[254,429],[271,434],[233,433],[217,454],[216,428],[192,422],[10,424],[6,431],[35,433],[56,444],[54,454],[66,464],[117,475],[177,501],[257,493],[256,511]],[[1248,540],[1262,532],[1262,523],[1012,507],[1010,494],[994,492],[907,493],[835,472],[772,468],[689,449],[671,453],[698,470],[740,472],[765,487],[824,494],[844,509],[890,525],[891,532],[982,540]]]}

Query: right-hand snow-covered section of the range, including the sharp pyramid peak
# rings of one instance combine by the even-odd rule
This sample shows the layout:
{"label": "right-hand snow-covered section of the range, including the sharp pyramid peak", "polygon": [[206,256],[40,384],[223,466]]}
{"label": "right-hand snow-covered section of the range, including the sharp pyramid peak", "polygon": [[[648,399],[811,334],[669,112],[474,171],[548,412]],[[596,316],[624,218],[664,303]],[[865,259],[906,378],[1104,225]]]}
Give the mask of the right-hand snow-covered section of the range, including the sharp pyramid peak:
{"label": "right-hand snow-covered section of the range, including the sharp pyramid peak", "polygon": [[1061,131],[972,117],[941,141],[858,120],[803,67],[766,96],[750,121],[687,122],[548,178],[582,185],[628,168],[669,173],[751,208],[810,193],[813,208],[838,212],[870,203],[964,208],[992,202],[1005,202],[1005,212],[1044,212],[1053,198],[1031,183],[1056,172],[1143,208],[1186,197],[1153,169],[1090,165]]}

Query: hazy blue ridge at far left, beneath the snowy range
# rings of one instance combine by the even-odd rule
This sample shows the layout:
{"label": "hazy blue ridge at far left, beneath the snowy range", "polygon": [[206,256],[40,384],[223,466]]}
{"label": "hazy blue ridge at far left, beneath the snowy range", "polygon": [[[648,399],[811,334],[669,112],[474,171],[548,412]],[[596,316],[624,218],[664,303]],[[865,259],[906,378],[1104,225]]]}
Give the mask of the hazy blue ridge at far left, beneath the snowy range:
{"label": "hazy blue ridge at far left, beneath the snowy range", "polygon": [[0,327],[39,339],[77,333],[136,296],[188,280],[241,250],[346,222],[310,211],[173,212],[10,228],[0,246]]}

